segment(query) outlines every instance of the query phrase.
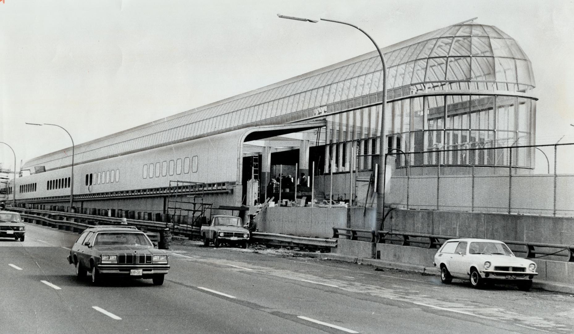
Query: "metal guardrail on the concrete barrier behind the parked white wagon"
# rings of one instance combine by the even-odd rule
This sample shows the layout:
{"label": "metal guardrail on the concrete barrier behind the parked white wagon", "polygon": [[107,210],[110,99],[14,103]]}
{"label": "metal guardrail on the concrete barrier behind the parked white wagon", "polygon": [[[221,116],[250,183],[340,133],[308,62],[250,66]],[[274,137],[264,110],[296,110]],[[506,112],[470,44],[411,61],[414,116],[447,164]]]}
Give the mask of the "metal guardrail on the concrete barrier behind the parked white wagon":
{"label": "metal guardrail on the concrete barrier behind the parked white wagon", "polygon": [[[346,232],[339,232],[346,231]],[[447,235],[432,235],[428,233],[417,233],[417,232],[395,232],[395,231],[374,231],[370,229],[355,229],[355,228],[338,228],[333,227],[333,239],[339,239],[340,236],[346,236],[349,240],[359,240],[366,239],[371,243],[386,243],[387,241],[394,241],[401,243],[401,245],[409,246],[410,244],[424,244],[428,248],[439,248],[444,241],[449,239],[461,239],[463,237],[459,236],[447,236]],[[417,240],[410,239],[411,237],[423,238],[428,240]],[[517,245],[526,247],[526,250],[513,249],[513,252],[525,253],[526,258],[536,259],[536,255],[542,256],[565,256],[568,258],[568,262],[574,262],[574,244],[564,245],[564,244],[546,244],[546,243],[530,243],[527,241],[513,241],[513,240],[501,240],[507,245]],[[558,251],[548,251],[546,249],[536,249],[536,248],[555,248]],[[541,256],[538,256],[540,258]]]}

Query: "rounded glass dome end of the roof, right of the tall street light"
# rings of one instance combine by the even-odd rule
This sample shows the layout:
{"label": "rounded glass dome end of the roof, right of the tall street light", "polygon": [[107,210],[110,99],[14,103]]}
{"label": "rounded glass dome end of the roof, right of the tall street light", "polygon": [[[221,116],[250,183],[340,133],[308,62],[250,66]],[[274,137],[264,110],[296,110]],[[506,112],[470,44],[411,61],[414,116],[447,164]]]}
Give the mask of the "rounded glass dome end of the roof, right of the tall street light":
{"label": "rounded glass dome end of the roof, right of the tall street light", "polygon": [[[430,39],[385,53],[389,89],[452,89],[451,83],[482,83],[478,89],[524,91],[534,87],[530,60],[516,41],[495,26],[459,24],[435,30]],[[448,84],[448,87],[444,87]],[[471,89],[468,85],[459,89]]]}

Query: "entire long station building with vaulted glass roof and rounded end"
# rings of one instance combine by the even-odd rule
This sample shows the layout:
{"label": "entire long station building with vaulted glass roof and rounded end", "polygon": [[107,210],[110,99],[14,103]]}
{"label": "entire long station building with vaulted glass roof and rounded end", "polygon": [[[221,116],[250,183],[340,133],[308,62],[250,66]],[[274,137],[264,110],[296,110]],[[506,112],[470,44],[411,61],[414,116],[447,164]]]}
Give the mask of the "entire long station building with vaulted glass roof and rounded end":
{"label": "entire long station building with vaulted glass roof and rounded end", "polygon": [[[532,171],[533,148],[496,149],[534,144],[532,65],[512,37],[465,22],[382,51],[387,101],[373,51],[76,145],[75,210],[166,213],[167,198],[181,186],[214,208],[254,205],[278,195],[270,180],[280,174],[291,176],[289,186],[298,185],[297,197],[307,202],[312,189],[317,203],[332,197],[374,206],[382,103],[385,152],[401,153],[387,161],[389,205],[432,208],[428,178],[467,175],[471,167],[482,175],[509,167]],[[71,148],[26,162],[22,168],[33,173],[18,178],[15,189],[12,182],[7,193],[15,191],[21,205],[66,206],[67,152]],[[293,189],[282,194],[293,196]],[[480,198],[473,195],[473,202]]]}

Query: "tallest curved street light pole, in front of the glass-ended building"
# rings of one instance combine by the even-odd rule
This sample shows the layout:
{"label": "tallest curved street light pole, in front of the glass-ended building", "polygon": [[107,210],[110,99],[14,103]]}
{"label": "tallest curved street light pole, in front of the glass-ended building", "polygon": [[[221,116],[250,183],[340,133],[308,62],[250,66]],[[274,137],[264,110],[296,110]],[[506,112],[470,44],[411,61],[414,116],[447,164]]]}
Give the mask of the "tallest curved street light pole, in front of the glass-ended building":
{"label": "tallest curved street light pole, in front of the glass-ended building", "polygon": [[[277,16],[280,18],[287,18],[289,20],[306,21],[306,22],[312,22],[312,23],[319,22],[317,20],[310,20],[308,18],[284,16],[284,15],[280,15],[280,14],[277,14]],[[377,174],[377,188],[378,188],[377,189],[377,220],[381,221],[381,224],[379,225],[379,227],[380,227],[383,224],[383,217],[385,217],[385,208],[384,208],[385,193],[384,193],[384,191],[385,191],[386,165],[384,162],[385,159],[383,158],[383,156],[385,155],[385,153],[384,153],[385,152],[385,113],[386,113],[386,105],[387,105],[387,67],[386,67],[386,63],[385,63],[385,57],[383,56],[383,53],[381,52],[381,49],[379,49],[377,43],[375,43],[375,40],[373,40],[373,38],[371,36],[369,36],[368,33],[366,33],[363,29],[360,29],[358,26],[352,25],[350,23],[343,22],[343,21],[328,20],[327,18],[320,18],[320,20],[321,21],[328,21],[328,22],[335,22],[335,23],[344,24],[344,25],[349,25],[355,29],[358,29],[360,32],[362,32],[367,37],[369,37],[371,42],[373,42],[373,44],[375,45],[375,48],[377,49],[377,52],[379,53],[379,57],[381,58],[381,64],[383,66],[383,68],[382,68],[382,71],[383,71],[383,103],[382,103],[382,115],[381,115],[381,137],[379,137],[379,165],[383,166],[383,170],[382,170],[382,172],[379,172]]]}

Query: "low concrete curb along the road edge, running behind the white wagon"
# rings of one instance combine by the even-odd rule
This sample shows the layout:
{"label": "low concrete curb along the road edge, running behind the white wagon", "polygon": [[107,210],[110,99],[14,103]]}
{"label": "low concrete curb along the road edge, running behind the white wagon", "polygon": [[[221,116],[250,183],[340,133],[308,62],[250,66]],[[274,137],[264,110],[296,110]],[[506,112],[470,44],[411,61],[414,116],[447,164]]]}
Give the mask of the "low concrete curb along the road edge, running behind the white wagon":
{"label": "low concrete curb along the road edge, running behind the white wagon", "polygon": [[[319,258],[324,260],[340,260],[344,262],[351,262],[357,264],[366,264],[373,267],[398,269],[405,271],[420,272],[425,275],[440,275],[440,271],[436,267],[418,266],[416,264],[399,263],[399,262],[386,262],[377,259],[358,258],[352,255],[342,255],[333,253],[309,253],[309,252],[293,252],[297,256],[305,256],[307,258]],[[534,280],[532,287],[534,289],[542,289],[546,291],[561,292],[574,294],[574,285],[565,284],[552,281]]]}

